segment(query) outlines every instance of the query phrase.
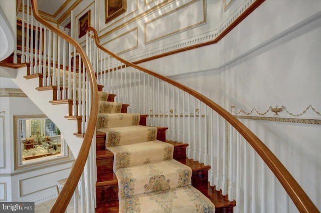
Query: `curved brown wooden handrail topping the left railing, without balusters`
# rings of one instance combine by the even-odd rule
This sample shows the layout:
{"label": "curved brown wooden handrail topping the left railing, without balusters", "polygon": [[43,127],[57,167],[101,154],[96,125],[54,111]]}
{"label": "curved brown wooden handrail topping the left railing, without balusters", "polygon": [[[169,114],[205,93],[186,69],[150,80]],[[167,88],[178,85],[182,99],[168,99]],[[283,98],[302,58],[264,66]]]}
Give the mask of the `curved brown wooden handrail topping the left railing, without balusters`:
{"label": "curved brown wooden handrail topping the left railing, without balusters", "polygon": [[93,67],[91,63],[89,62],[89,58],[87,57],[84,49],[80,46],[80,44],[75,41],[72,37],[61,31],[60,29],[54,27],[49,22],[47,22],[44,18],[42,18],[39,15],[38,11],[38,2],[37,0],[32,0],[32,9],[34,12],[35,18],[44,24],[46,27],[51,29],[53,32],[67,40],[70,44],[76,47],[76,50],[80,54],[80,57],[83,59],[83,63],[86,67],[86,71],[88,72],[88,80],[90,82],[90,85],[92,87],[92,95],[91,95],[91,108],[87,124],[86,133],[84,135],[83,142],[80,147],[80,152],[76,158],[76,161],[70,171],[70,174],[68,175],[68,178],[66,180],[66,183],[64,187],[62,188],[61,192],[59,193],[54,205],[52,206],[50,212],[64,212],[67,208],[67,205],[77,187],[78,181],[81,177],[81,174],[83,172],[89,149],[91,146],[91,141],[95,132],[96,128],[96,121],[97,121],[97,114],[98,114],[98,87],[97,87],[97,81],[96,77],[93,71]]}

